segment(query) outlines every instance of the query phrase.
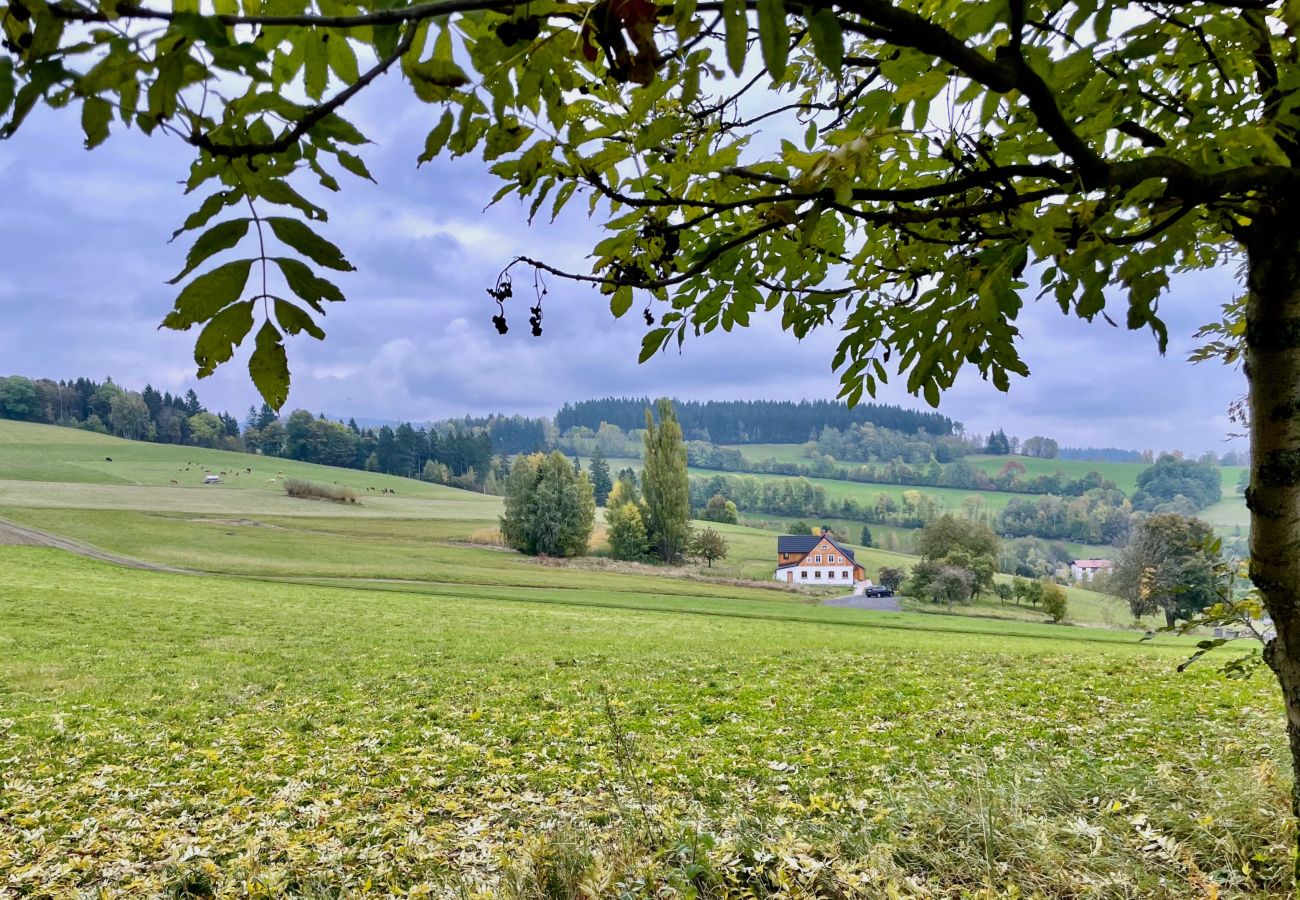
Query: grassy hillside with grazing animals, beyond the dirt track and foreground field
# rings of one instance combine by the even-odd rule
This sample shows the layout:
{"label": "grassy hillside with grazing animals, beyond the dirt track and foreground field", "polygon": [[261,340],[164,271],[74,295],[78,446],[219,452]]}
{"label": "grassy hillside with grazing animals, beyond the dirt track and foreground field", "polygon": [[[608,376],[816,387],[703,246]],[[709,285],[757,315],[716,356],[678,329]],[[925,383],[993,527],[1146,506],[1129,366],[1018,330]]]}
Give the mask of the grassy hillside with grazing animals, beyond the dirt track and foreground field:
{"label": "grassy hillside with grazing animals, beyond the dirt track and foreground field", "polygon": [[[237,470],[240,462],[244,466]],[[204,470],[225,471],[228,476],[222,484],[205,485]],[[176,568],[537,588],[610,583],[620,592],[789,598],[770,580],[772,533],[742,525],[714,525],[731,544],[728,558],[712,568],[688,568],[690,579],[681,579],[676,577],[681,572],[673,570],[599,558],[563,567],[538,566],[481,542],[495,540],[500,498],[355,470],[0,421],[0,473],[8,476],[0,477],[0,516]],[[277,475],[347,485],[359,502],[295,499],[285,494],[278,480],[270,483]],[[179,485],[172,484],[181,480]],[[395,493],[384,494],[385,489]],[[603,549],[599,533],[595,549]],[[887,550],[858,551],[868,576],[880,566],[909,568],[915,563],[914,557]],[[754,587],[719,584],[727,579],[749,580]],[[1124,622],[1115,601],[1092,592],[1071,592],[1075,622]],[[796,596],[800,602],[807,597]],[[1013,619],[1041,618],[1036,611],[1014,607],[980,611]]]}

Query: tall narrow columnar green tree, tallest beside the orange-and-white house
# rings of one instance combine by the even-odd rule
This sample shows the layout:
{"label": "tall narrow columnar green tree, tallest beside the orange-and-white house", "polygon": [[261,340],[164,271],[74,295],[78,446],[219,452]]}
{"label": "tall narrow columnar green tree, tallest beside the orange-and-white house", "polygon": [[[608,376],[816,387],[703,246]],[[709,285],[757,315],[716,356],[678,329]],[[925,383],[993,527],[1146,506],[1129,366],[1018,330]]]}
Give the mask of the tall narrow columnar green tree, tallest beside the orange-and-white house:
{"label": "tall narrow columnar green tree, tallest beside the orange-and-white house", "polygon": [[659,423],[646,410],[645,468],[641,492],[645,497],[646,533],[650,549],[659,559],[673,562],[690,540],[690,485],[686,479],[686,446],[681,425],[667,398],[655,401]]}

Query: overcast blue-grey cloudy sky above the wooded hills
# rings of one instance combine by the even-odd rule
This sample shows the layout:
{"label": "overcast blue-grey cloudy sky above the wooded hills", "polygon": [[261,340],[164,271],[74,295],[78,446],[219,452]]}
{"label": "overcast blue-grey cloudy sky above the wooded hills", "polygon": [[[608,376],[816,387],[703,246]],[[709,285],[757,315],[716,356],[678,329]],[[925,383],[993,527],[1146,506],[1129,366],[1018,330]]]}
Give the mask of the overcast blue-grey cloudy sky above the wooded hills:
{"label": "overcast blue-grey cloudy sky above the wooded hills", "polygon": [[[526,303],[516,299],[510,334],[498,337],[490,321],[495,304],[485,294],[497,272],[517,254],[582,271],[597,228],[582,215],[556,225],[540,217],[529,228],[512,202],[485,211],[499,182],[473,159],[417,169],[439,111],[391,86],[348,112],[376,140],[367,161],[380,183],[344,176],[343,192],[324,199],[325,234],[359,271],[339,280],[348,302],[329,311],[328,339],[291,341],[289,408],[421,421],[554,415],[564,401],[608,394],[836,395],[833,333],[797,343],[776,316],[737,334],[688,341],[682,354],[638,365],[641,317],[615,321],[604,298],[552,280],[545,336],[528,333]],[[75,109],[38,109],[16,138],[0,143],[0,375],[194,388],[209,407],[237,414],[257,401],[246,352],[199,382],[195,333],[156,330],[176,295],[165,280],[179,271],[186,250],[183,241],[166,241],[196,205],[178,185],[188,159],[176,139],[134,131],[114,133],[87,152]],[[585,212],[585,203],[571,204],[575,212],[580,207]],[[1062,445],[1222,451],[1236,430],[1227,406],[1245,390],[1244,377],[1184,360],[1192,333],[1235,291],[1231,271],[1176,277],[1162,302],[1170,330],[1164,358],[1149,333],[1088,325],[1048,302],[1030,303],[1020,329],[1032,376],[1001,394],[967,375],[940,410],[972,432],[1005,428]],[[1118,303],[1112,317],[1123,321]],[[881,399],[923,406],[892,385]]]}

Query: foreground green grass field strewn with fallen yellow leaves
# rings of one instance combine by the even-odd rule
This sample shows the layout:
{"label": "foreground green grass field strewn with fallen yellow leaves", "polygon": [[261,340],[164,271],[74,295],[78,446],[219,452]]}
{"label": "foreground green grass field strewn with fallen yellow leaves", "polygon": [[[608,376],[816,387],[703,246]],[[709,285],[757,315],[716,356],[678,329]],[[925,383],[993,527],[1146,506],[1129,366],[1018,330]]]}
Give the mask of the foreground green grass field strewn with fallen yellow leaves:
{"label": "foreground green grass field strewn with fallen yellow leaves", "polygon": [[369,588],[0,548],[0,893],[1287,891],[1275,692],[1170,639]]}

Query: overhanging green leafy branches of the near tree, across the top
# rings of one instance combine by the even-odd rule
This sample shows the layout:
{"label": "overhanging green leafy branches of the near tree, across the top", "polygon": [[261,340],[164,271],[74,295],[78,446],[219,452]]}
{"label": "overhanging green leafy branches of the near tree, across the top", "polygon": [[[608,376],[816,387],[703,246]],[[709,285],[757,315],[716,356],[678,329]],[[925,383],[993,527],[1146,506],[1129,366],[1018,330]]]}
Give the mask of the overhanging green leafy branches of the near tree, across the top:
{"label": "overhanging green leafy branches of the near tree, across the top", "polygon": [[324,336],[352,268],[298,186],[370,177],[344,113],[385,74],[439,111],[421,161],[476,153],[530,216],[577,195],[601,213],[589,272],[503,260],[500,329],[521,269],[595,285],[620,316],[640,297],[646,355],[779,311],[796,337],[842,329],[850,401],[887,365],[931,403],[966,364],[1000,388],[1026,373],[1030,264],[1086,319],[1122,287],[1126,324],[1164,346],[1169,272],[1218,263],[1300,185],[1295,12],[1264,0],[0,10],[4,135],[38,103],[78,104],[87,147],[122,127],[192,147],[177,234],[196,237],[164,324],[200,328],[200,375],[252,334],[274,406],[285,337]]}

